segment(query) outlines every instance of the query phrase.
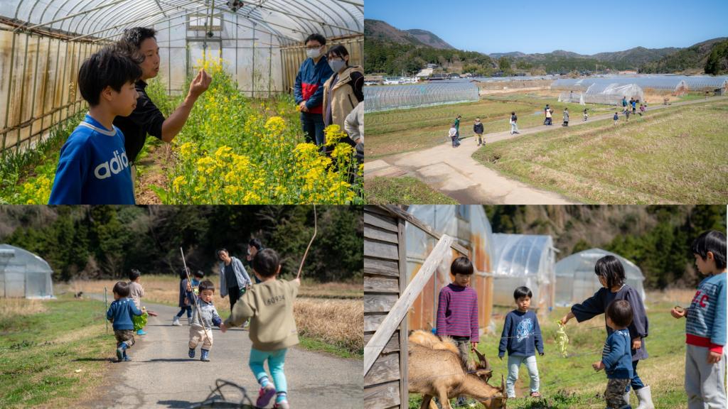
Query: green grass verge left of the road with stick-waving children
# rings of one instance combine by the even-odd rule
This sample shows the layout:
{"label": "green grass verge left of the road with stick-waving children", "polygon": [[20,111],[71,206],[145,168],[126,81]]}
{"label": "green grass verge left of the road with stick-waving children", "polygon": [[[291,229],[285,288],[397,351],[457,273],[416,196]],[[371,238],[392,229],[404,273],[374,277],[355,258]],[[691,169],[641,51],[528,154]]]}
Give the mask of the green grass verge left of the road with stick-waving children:
{"label": "green grass verge left of the road with stick-waving children", "polygon": [[1,300],[0,408],[72,406],[97,386],[113,354],[100,301]]}

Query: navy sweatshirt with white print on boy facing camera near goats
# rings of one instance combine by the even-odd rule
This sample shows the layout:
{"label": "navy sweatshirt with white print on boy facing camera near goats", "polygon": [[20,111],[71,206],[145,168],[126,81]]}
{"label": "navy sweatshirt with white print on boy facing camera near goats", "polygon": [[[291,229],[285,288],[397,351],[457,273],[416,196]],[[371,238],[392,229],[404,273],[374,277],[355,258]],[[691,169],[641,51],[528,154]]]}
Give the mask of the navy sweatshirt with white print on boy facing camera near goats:
{"label": "navy sweatshirt with white print on boy facing camera near goats", "polygon": [[541,338],[539,319],[534,311],[521,312],[517,309],[505,316],[505,325],[498,346],[498,356],[503,357],[506,350],[508,356],[531,357],[544,352],[544,341]]}

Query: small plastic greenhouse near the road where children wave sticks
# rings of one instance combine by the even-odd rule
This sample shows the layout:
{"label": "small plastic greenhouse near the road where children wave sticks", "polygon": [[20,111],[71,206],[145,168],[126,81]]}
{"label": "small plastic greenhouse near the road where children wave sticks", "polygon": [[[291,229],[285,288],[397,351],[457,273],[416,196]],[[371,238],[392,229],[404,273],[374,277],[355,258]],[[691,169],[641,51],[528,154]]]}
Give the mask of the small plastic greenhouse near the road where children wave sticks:
{"label": "small plastic greenhouse near the road where children wave sticks", "polygon": [[0,245],[0,296],[53,298],[52,269],[28,250]]}

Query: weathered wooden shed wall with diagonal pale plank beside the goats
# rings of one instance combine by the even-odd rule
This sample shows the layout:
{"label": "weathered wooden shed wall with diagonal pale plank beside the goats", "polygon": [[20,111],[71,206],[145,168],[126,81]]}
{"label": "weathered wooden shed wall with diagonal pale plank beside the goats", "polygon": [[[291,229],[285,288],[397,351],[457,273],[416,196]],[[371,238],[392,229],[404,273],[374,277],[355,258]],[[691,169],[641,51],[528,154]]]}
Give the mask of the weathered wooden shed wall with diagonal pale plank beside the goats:
{"label": "weathered wooden shed wall with diagonal pale plank beside the goats", "polygon": [[[407,225],[405,227],[405,225]],[[405,231],[420,229],[438,245],[412,282]],[[400,207],[364,208],[364,408],[408,408],[408,309],[444,260],[468,250]]]}

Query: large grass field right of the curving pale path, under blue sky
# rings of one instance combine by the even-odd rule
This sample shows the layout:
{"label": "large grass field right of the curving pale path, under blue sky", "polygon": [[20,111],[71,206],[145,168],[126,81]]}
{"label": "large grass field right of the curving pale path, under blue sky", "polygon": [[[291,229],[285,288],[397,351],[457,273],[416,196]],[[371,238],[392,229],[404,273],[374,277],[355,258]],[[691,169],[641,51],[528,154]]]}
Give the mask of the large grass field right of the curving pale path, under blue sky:
{"label": "large grass field right of the curving pale path, under blue sky", "polygon": [[724,203],[728,100],[523,135],[473,157],[532,186],[586,203]]}

